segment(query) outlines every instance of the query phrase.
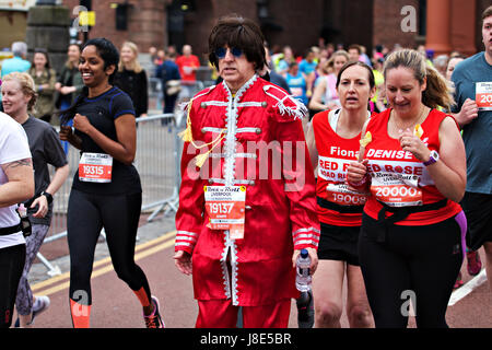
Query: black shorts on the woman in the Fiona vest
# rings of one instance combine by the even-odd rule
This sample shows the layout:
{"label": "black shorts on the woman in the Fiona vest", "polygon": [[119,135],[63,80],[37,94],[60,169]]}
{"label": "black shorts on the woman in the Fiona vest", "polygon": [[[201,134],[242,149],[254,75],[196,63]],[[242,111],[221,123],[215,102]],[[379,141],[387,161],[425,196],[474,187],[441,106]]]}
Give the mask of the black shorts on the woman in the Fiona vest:
{"label": "black shorts on the woman in the Fiona vest", "polygon": [[358,244],[361,226],[333,226],[321,222],[318,259],[347,261],[360,266]]}

